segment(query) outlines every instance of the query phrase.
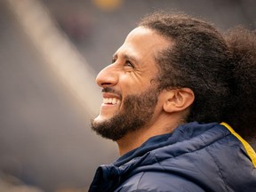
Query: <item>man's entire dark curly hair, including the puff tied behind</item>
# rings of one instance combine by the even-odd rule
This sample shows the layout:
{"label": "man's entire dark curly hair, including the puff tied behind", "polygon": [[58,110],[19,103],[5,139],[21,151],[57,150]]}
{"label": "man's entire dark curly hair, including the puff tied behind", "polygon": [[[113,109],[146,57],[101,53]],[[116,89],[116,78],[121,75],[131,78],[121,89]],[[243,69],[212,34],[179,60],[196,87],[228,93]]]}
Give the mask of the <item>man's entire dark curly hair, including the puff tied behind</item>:
{"label": "man's entire dark curly hair, including the puff tied behind", "polygon": [[256,111],[255,34],[236,29],[226,37],[204,20],[165,12],[146,16],[139,26],[170,40],[156,57],[159,89],[193,90],[187,122],[227,122],[244,137],[256,134],[248,119]]}

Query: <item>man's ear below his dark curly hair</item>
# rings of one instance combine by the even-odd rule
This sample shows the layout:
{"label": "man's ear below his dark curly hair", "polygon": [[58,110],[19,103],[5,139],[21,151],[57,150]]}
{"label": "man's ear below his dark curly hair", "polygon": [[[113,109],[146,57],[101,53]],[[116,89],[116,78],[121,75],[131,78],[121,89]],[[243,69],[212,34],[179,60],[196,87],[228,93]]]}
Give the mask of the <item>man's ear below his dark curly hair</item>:
{"label": "man's ear below his dark curly hair", "polygon": [[194,92],[189,88],[168,90],[165,94],[163,108],[167,113],[185,110],[195,100]]}

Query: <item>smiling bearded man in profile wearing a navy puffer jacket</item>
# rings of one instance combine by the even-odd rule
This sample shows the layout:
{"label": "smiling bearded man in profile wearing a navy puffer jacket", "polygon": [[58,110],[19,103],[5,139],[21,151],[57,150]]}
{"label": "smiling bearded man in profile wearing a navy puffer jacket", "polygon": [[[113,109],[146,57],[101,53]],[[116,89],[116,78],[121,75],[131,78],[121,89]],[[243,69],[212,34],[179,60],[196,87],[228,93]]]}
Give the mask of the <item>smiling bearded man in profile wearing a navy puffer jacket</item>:
{"label": "smiling bearded man in profile wearing a navy puffer jacket", "polygon": [[156,12],[96,81],[92,130],[121,157],[98,168],[89,191],[256,191],[255,152],[230,127],[255,136],[253,33],[224,38],[202,20]]}

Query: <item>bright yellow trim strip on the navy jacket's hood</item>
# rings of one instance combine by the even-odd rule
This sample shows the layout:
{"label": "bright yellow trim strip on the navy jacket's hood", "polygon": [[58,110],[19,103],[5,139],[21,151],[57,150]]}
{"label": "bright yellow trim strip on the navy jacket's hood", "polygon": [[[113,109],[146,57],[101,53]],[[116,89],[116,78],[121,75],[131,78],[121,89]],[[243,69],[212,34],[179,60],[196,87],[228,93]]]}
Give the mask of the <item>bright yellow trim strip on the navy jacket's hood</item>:
{"label": "bright yellow trim strip on the navy jacket's hood", "polygon": [[226,124],[224,122],[222,122],[221,124],[224,125],[229,130],[229,132],[231,132],[238,140],[240,140],[242,142],[248,156],[250,156],[250,158],[252,160],[252,164],[254,165],[254,167],[256,167],[256,153],[253,150],[252,146],[250,146],[250,144],[246,140],[244,140],[237,132],[235,132],[232,129],[232,127],[229,126],[229,124]]}

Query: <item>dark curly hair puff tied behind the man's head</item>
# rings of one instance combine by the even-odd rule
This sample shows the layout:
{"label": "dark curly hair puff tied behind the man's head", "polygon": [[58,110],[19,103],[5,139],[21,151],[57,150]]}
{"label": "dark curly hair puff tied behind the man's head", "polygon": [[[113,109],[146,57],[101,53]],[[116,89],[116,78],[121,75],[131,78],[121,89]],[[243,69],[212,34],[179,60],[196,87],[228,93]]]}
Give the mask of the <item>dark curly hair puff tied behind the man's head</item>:
{"label": "dark curly hair puff tied behind the man's head", "polygon": [[226,122],[252,138],[256,134],[256,33],[239,27],[229,30],[225,38],[234,65],[233,105],[226,112]]}

